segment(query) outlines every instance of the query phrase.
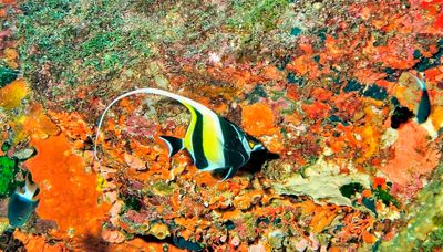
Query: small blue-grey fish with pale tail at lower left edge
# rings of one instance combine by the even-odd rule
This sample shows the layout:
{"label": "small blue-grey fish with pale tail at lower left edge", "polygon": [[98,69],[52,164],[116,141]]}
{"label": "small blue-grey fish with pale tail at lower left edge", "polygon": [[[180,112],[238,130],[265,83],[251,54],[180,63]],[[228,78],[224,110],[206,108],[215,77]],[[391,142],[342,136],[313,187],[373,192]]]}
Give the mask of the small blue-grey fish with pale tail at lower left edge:
{"label": "small blue-grey fish with pale tail at lower left edge", "polygon": [[[23,191],[24,190],[24,191]],[[39,186],[32,181],[31,172],[27,172],[23,188],[17,188],[9,198],[8,220],[13,228],[23,225],[39,204],[34,197],[39,193]]]}

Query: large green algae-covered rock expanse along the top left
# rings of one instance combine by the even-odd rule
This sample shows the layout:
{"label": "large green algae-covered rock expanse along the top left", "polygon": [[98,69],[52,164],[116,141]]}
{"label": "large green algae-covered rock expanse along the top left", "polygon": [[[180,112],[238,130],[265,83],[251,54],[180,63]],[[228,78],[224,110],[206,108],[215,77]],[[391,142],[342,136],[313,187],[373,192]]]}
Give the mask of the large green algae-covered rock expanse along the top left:
{"label": "large green algae-covered rock expanse along the top left", "polygon": [[[152,80],[167,88],[166,73],[183,69],[181,59],[204,63],[202,55],[226,44],[238,43],[224,52],[236,59],[262,56],[269,48],[262,38],[270,48],[293,46],[290,4],[287,0],[23,1],[17,22],[17,34],[23,40],[19,55],[38,97],[51,99],[47,106],[90,111],[85,99],[64,94],[93,85],[97,88],[89,95],[106,98],[127,88],[127,83]],[[275,36],[277,31],[284,36]],[[157,63],[159,71],[151,70]]]}

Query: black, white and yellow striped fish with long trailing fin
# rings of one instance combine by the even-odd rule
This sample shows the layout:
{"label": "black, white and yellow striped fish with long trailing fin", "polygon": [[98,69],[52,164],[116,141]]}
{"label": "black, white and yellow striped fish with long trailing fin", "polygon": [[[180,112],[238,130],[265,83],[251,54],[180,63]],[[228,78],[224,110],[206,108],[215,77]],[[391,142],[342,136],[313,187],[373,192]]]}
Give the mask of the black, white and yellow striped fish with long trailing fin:
{"label": "black, white and yellow striped fish with long trailing fin", "polygon": [[163,90],[140,88],[120,95],[104,109],[95,135],[95,158],[100,128],[106,112],[120,99],[134,94],[157,94],[183,104],[192,115],[185,137],[182,139],[161,136],[161,139],[169,149],[169,157],[173,157],[182,149],[186,149],[199,170],[226,171],[223,180],[230,178],[240,167],[246,165],[253,151],[265,149],[261,144],[250,139],[239,127],[218,116],[200,103]]}

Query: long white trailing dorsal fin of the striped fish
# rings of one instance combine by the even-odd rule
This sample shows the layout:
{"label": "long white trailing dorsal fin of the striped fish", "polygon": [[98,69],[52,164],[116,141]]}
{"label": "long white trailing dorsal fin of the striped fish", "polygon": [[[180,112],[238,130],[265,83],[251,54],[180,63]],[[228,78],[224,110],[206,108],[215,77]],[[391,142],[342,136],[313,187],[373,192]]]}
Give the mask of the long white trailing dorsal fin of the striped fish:
{"label": "long white trailing dorsal fin of the striped fish", "polygon": [[100,129],[102,127],[103,124],[103,119],[107,113],[107,111],[119,101],[121,101],[122,98],[128,97],[131,95],[136,95],[136,94],[156,94],[156,95],[162,95],[162,96],[166,96],[173,99],[178,101],[179,103],[182,103],[183,105],[185,105],[188,109],[189,107],[193,107],[195,109],[197,109],[198,112],[200,112],[202,114],[205,115],[212,115],[212,116],[217,116],[213,111],[210,111],[209,108],[207,108],[205,105],[197,103],[190,98],[186,98],[182,95],[177,95],[167,91],[163,91],[163,90],[157,90],[157,88],[151,88],[151,87],[146,87],[146,88],[138,88],[135,91],[131,91],[127,93],[124,93],[122,95],[120,95],[119,97],[114,98],[104,109],[104,112],[102,113],[100,119],[99,119],[99,124],[97,124],[97,128],[96,128],[96,133],[95,133],[95,140],[94,140],[94,159],[97,159],[96,157],[96,150],[97,150],[97,143],[99,143],[99,134],[100,134]]}

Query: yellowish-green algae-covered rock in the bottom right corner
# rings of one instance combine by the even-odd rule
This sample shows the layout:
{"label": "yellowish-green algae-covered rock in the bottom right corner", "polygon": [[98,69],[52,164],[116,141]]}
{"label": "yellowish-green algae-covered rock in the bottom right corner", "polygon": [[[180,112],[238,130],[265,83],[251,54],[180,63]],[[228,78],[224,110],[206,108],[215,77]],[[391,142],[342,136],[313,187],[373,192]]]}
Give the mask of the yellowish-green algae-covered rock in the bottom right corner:
{"label": "yellowish-green algae-covered rock in the bottom right corner", "polygon": [[405,229],[383,242],[380,251],[432,251],[443,246],[443,165],[409,206],[409,217]]}

